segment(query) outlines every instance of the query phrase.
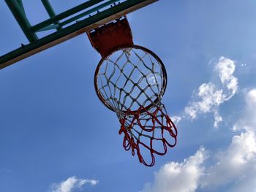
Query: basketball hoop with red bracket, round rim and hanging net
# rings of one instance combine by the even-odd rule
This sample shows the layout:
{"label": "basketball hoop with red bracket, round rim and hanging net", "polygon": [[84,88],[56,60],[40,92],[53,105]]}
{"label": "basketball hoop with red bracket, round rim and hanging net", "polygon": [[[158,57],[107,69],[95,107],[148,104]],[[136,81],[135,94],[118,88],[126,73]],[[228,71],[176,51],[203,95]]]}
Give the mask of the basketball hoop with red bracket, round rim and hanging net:
{"label": "basketball hoop with red bracket, round rim and hanging net", "polygon": [[153,166],[154,154],[165,155],[177,137],[176,126],[161,102],[167,84],[165,66],[151,50],[133,44],[126,17],[88,36],[102,55],[94,74],[97,96],[116,112],[124,149],[132,150],[132,155],[136,150],[140,163]]}

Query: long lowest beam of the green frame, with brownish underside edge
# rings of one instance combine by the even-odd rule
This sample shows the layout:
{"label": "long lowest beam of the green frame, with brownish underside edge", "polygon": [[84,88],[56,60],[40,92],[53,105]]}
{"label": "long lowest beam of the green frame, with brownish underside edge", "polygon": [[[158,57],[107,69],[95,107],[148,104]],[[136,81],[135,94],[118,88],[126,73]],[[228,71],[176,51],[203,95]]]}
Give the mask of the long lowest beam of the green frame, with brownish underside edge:
{"label": "long lowest beam of the green frame, with brownish underside edge", "polygon": [[158,0],[127,0],[0,57],[0,69]]}

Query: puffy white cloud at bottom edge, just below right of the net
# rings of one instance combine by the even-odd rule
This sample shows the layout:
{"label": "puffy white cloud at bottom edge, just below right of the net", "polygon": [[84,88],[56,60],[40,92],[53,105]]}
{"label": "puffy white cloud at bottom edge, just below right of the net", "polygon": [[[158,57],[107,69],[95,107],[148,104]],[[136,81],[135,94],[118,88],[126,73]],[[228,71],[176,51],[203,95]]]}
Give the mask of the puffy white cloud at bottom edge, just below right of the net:
{"label": "puffy white cloud at bottom edge, just below right of the net", "polygon": [[165,164],[155,173],[153,184],[146,184],[143,192],[190,192],[195,191],[200,177],[203,175],[203,161],[206,159],[206,152],[203,147],[178,164],[170,162]]}

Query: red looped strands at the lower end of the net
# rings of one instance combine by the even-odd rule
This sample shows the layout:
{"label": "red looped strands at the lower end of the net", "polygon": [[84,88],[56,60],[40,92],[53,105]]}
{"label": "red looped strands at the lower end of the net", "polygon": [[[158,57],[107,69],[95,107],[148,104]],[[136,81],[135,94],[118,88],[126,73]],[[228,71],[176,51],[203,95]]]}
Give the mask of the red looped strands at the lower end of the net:
{"label": "red looped strands at the lower end of the net", "polygon": [[[159,104],[154,110],[145,110],[140,107],[138,111],[127,111],[120,119],[119,134],[124,133],[123,147],[132,150],[132,155],[137,152],[140,163],[154,166],[157,155],[165,155],[167,147],[174,147],[177,142],[177,128],[167,115],[165,106]],[[146,154],[148,153],[148,155]],[[148,156],[148,162],[145,157]]]}

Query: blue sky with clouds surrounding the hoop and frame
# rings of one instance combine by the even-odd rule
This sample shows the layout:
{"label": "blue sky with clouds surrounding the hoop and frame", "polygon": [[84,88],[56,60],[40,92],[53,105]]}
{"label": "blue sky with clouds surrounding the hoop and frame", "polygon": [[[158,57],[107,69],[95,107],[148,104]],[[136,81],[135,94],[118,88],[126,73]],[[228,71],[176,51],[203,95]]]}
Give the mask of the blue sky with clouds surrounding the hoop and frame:
{"label": "blue sky with clouds surrounding the hoop and frame", "polygon": [[[53,1],[56,12],[80,4]],[[47,18],[24,1],[32,24]],[[178,144],[138,163],[94,91],[86,35],[0,70],[0,191],[254,191],[256,2],[158,1],[127,15],[134,42],[162,58],[162,101]],[[0,54],[26,44],[0,2]],[[215,123],[215,126],[214,126]]]}

